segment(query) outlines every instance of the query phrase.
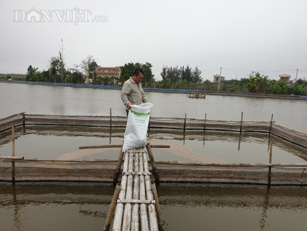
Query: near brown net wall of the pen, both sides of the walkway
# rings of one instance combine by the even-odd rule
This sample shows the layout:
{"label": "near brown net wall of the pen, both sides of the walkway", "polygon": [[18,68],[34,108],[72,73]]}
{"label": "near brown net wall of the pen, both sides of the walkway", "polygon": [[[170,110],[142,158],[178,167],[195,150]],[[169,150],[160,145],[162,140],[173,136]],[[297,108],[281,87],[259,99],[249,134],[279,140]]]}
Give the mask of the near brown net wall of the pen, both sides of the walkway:
{"label": "near brown net wall of the pen, both sides of the walkway", "polygon": [[[0,181],[112,182],[117,160],[0,160]],[[65,161],[65,162],[64,162]],[[97,162],[95,162],[97,161]],[[13,166],[14,163],[14,166]],[[307,164],[292,167],[268,167],[269,164],[199,164],[156,161],[160,182],[212,184],[307,185]],[[149,163],[150,166],[150,163]],[[285,164],[286,166],[286,164]],[[290,165],[289,165],[290,166]],[[300,167],[301,166],[301,167]],[[150,170],[152,172],[152,170]],[[14,176],[14,180],[13,180]],[[151,180],[154,181],[153,176]],[[119,177],[119,180],[121,177]]]}

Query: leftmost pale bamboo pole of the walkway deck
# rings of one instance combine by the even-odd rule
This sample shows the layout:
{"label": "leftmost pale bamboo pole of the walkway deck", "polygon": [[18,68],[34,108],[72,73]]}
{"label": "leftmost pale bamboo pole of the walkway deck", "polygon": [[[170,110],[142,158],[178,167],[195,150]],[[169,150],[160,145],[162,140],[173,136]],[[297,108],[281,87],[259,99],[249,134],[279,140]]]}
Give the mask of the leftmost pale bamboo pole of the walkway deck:
{"label": "leftmost pale bamboo pole of the walkway deck", "polygon": [[[129,161],[128,152],[125,152],[123,171],[128,171],[128,161]],[[127,186],[127,176],[123,175],[122,178],[121,178],[121,189],[120,189],[120,192],[119,192],[119,195],[118,195],[119,200],[125,199],[126,186]],[[116,210],[115,210],[115,216],[114,216],[112,231],[121,231],[123,210],[124,210],[124,204],[118,203],[117,206],[116,206]]]}

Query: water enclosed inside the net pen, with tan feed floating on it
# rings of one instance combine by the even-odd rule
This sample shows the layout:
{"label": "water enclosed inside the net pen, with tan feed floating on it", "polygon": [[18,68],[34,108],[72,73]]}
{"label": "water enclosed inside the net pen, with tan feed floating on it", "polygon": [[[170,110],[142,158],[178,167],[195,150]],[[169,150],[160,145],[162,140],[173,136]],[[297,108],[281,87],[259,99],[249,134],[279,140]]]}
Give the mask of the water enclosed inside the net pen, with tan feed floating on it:
{"label": "water enclosed inside the net pen, with tan feed floating on it", "polygon": [[[26,126],[15,131],[15,153],[40,159],[117,159],[119,148],[78,149],[80,146],[121,145],[125,129],[73,126]],[[269,135],[257,132],[154,130],[148,137],[155,160],[198,163],[268,163]],[[306,163],[306,148],[278,137],[273,140],[272,163]],[[0,153],[12,153],[11,131],[0,134]]]}

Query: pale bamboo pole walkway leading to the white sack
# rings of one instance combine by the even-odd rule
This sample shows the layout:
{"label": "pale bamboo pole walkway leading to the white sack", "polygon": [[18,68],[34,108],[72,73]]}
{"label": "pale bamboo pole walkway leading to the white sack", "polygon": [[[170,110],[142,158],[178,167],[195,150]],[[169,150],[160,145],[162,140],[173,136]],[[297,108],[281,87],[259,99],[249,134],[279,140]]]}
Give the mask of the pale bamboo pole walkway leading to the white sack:
{"label": "pale bamboo pole walkway leading to the white sack", "polygon": [[[120,153],[116,170],[121,168],[124,158],[121,183],[116,184],[104,231],[110,229],[114,210],[112,231],[164,230],[155,183],[151,182],[152,173],[148,170],[147,155],[151,159],[153,174],[158,182],[149,144]],[[118,174],[115,173],[114,183],[117,179]]]}

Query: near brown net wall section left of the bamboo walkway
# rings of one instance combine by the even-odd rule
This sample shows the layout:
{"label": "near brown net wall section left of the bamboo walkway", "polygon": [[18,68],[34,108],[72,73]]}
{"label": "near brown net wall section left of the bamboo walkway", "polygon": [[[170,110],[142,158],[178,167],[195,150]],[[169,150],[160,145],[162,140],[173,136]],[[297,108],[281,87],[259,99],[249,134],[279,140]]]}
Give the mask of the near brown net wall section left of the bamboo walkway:
{"label": "near brown net wall section left of the bamboo walkway", "polygon": [[[55,160],[57,161],[57,160]],[[0,181],[112,182],[116,162],[0,160]],[[13,165],[14,164],[14,165]]]}

